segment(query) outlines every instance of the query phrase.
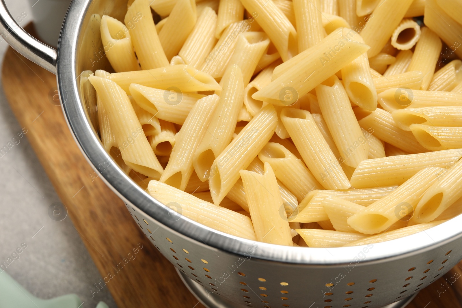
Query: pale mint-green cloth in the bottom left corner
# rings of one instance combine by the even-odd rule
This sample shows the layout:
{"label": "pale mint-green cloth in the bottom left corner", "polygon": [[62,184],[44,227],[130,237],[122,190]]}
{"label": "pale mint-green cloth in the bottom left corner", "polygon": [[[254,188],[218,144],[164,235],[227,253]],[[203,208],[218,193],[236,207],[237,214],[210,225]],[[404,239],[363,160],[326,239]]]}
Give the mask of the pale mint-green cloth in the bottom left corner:
{"label": "pale mint-green cloth in the bottom left corner", "polygon": [[[0,272],[0,308],[79,308],[82,301],[76,294],[67,294],[52,299],[40,299],[32,294],[5,271]],[[99,302],[96,308],[109,308]]]}

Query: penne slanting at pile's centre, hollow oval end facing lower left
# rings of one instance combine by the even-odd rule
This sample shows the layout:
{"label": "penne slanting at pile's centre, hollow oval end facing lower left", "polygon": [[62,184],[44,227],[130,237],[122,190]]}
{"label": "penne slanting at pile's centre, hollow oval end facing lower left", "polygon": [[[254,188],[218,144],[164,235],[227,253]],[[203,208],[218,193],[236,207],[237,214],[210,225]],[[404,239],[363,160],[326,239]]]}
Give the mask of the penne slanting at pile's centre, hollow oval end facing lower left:
{"label": "penne slanting at pile's centre, hollow oval end facing lower left", "polygon": [[263,107],[215,159],[209,176],[213,203],[219,205],[225,198],[239,179],[239,170],[246,169],[267,144],[274,133],[277,121],[274,107]]}

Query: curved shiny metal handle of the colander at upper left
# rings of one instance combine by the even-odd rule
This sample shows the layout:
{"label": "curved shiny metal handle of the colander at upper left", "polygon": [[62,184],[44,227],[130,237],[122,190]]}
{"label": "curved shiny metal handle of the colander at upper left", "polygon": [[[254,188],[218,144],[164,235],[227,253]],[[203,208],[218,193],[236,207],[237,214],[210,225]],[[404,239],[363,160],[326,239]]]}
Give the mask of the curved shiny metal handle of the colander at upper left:
{"label": "curved shiny metal handle of the colander at upper left", "polygon": [[23,30],[0,0],[0,36],[18,53],[56,74],[56,49],[39,42]]}

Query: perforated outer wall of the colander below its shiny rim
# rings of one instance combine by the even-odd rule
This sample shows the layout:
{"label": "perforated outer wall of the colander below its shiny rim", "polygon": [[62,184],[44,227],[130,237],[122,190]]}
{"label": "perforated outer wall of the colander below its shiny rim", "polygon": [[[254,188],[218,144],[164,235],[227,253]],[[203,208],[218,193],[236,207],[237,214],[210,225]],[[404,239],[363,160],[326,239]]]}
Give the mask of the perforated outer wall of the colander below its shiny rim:
{"label": "perforated outer wall of the colander below its shiny rim", "polygon": [[[456,265],[462,253],[457,240],[425,254],[364,264],[272,262],[253,257],[254,251],[238,256],[208,247],[159,226],[133,206],[127,207],[145,235],[176,268],[207,293],[243,307],[379,308],[425,288]],[[254,243],[255,251],[258,244]],[[367,260],[374,245],[365,248],[357,247],[357,251]]]}

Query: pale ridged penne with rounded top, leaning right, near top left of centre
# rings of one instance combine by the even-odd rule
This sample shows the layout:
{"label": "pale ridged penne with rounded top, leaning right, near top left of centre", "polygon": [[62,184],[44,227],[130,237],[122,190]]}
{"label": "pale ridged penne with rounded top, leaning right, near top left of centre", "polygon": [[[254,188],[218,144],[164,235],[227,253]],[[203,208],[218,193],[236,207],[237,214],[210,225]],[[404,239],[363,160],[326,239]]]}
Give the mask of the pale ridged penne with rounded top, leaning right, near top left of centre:
{"label": "pale ridged penne with rounded top, leaning right, near top left of centre", "polygon": [[202,66],[205,58],[210,54],[217,42],[215,38],[216,22],[217,14],[211,7],[207,6],[197,18],[193,30],[178,52],[184,64],[195,68]]}

